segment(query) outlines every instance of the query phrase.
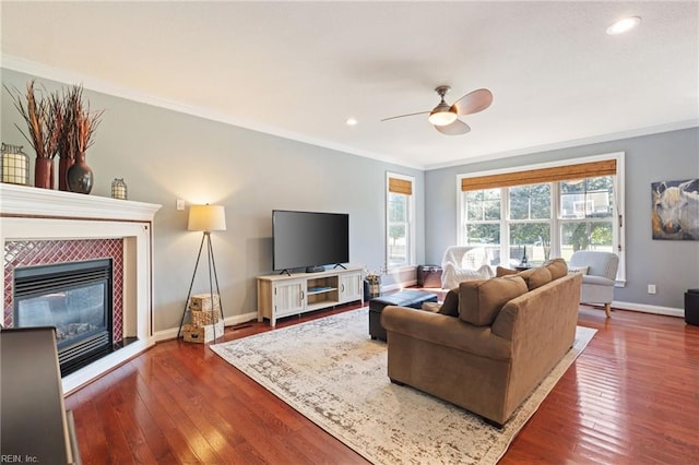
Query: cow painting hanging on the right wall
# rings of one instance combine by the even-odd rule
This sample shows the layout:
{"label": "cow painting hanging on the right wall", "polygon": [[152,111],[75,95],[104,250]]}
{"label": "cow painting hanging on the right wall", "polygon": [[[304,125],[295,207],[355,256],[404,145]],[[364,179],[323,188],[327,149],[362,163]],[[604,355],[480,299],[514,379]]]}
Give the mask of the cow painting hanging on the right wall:
{"label": "cow painting hanging on the right wall", "polygon": [[699,179],[651,183],[653,239],[699,240]]}

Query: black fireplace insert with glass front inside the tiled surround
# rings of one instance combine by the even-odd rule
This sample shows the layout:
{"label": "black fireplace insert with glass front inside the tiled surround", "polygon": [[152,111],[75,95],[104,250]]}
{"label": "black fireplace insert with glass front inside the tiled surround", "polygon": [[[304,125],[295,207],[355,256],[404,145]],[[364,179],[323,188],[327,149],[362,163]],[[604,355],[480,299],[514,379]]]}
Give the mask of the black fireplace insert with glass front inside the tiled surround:
{"label": "black fireplace insert with glass front inside the tiled surround", "polygon": [[55,326],[61,375],[114,350],[111,259],[14,270],[13,326]]}

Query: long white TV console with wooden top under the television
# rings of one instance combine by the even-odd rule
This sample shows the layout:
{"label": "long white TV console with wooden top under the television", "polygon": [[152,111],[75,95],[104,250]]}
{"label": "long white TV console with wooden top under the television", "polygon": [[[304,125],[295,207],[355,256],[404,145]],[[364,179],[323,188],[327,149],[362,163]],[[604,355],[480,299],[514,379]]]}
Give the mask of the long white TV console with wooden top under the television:
{"label": "long white TV console with wooden top under the television", "polygon": [[258,276],[258,321],[275,326],[283,317],[347,303],[364,302],[363,266]]}

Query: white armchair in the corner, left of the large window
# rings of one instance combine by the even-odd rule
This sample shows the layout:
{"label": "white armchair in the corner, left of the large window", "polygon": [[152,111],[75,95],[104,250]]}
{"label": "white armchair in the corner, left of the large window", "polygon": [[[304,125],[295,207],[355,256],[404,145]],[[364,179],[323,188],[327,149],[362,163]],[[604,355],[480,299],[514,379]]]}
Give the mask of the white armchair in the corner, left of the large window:
{"label": "white armchair in the corner, left of the large window", "polygon": [[463,281],[488,279],[495,276],[489,255],[485,247],[448,247],[441,260],[441,288],[453,289]]}

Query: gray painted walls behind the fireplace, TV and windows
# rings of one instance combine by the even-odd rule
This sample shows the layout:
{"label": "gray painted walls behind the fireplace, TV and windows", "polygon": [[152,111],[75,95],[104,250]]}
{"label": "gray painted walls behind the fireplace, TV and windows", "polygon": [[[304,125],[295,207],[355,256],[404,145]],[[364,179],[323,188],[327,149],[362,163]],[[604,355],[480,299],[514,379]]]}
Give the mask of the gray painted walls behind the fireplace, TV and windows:
{"label": "gray painted walls behind the fireplace, TV and windows", "polygon": [[[24,88],[32,76],[2,70],[2,83]],[[37,79],[49,91],[60,87]],[[227,317],[256,311],[254,276],[270,273],[273,208],[351,214],[353,264],[379,270],[384,257],[384,175],[416,179],[417,262],[439,263],[457,240],[457,175],[585,155],[626,152],[627,286],[616,299],[683,308],[683,293],[699,287],[699,242],[656,241],[650,233],[650,183],[699,177],[699,129],[537,153],[426,172],[304,144],[145,104],[86,91],[105,109],[87,164],[93,195],[109,195],[123,177],[129,199],[163,204],[155,220],[155,330],[179,324],[201,236],[187,231],[187,211],[175,200],[226,206],[228,230],[213,245]],[[7,92],[1,139],[24,144],[24,128]],[[33,155],[31,148],[26,148]],[[426,207],[425,205],[429,205]],[[426,227],[428,225],[428,227]],[[200,272],[194,291],[206,288]],[[384,285],[393,279],[387,276]],[[647,284],[657,294],[647,294]]]}

